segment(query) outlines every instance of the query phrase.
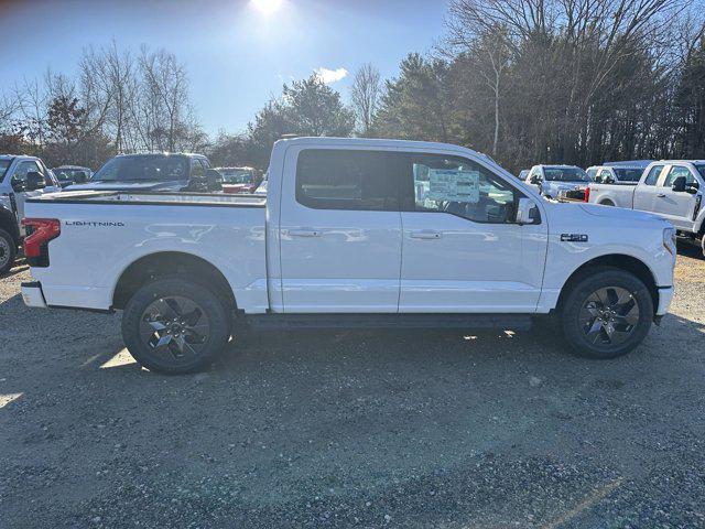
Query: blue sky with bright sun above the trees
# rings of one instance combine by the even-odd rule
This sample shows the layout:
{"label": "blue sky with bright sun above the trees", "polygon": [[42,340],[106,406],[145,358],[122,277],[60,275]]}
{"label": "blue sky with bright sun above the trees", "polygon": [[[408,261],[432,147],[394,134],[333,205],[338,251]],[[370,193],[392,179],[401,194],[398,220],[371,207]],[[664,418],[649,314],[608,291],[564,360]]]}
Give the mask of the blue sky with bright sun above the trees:
{"label": "blue sky with bright sun above the trees", "polygon": [[47,68],[75,74],[82,51],[164,47],[186,65],[210,134],[245,130],[283,83],[318,71],[349,99],[355,71],[397,76],[443,36],[447,0],[0,0],[0,93]]}

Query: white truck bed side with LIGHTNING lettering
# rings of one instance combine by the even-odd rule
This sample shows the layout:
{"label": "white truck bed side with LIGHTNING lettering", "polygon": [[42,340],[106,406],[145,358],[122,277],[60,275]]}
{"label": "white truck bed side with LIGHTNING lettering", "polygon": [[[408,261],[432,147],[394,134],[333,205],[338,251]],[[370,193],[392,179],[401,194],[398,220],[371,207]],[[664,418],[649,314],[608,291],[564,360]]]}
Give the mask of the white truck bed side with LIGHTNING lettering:
{"label": "white truck bed side with LIGHTNING lettering", "polygon": [[251,195],[119,191],[32,198],[26,216],[61,227],[48,242],[48,267],[32,273],[47,305],[110,310],[128,267],[149,269],[145,256],[175,262],[187,255],[217,267],[243,306],[264,312],[265,204]]}

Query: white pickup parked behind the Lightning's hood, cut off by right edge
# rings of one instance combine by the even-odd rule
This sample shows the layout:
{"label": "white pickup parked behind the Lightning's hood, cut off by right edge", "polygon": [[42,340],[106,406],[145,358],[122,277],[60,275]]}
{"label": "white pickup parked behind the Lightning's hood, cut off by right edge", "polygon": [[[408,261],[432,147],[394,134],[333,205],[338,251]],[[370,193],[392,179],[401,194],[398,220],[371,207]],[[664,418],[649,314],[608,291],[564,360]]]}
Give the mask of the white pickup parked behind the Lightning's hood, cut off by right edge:
{"label": "white pickup parked behind the Lightning's hood, cut off by right edge", "polygon": [[705,255],[705,161],[663,160],[650,163],[636,186],[593,183],[586,202],[654,213],[677,234],[699,240]]}

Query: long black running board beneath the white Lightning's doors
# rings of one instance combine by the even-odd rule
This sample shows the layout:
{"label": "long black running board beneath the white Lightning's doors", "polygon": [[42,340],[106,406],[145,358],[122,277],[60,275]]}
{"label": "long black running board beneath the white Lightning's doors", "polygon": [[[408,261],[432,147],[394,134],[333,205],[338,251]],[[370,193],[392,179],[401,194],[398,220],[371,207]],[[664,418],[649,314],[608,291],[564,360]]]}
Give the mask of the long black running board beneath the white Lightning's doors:
{"label": "long black running board beneath the white Lightning's doors", "polygon": [[253,328],[531,328],[529,314],[250,314],[236,322]]}

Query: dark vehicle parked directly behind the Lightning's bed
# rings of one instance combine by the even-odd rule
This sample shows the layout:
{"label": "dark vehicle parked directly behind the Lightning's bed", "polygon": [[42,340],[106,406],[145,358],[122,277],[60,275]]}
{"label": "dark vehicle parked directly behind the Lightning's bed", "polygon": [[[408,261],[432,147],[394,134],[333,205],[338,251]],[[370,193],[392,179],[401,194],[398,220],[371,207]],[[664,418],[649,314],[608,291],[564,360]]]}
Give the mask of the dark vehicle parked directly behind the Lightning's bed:
{"label": "dark vehicle parked directly behind the Lightning's bed", "polygon": [[203,154],[119,154],[108,160],[88,183],[69,185],[66,190],[196,191],[193,187],[207,180],[209,168],[208,159]]}

